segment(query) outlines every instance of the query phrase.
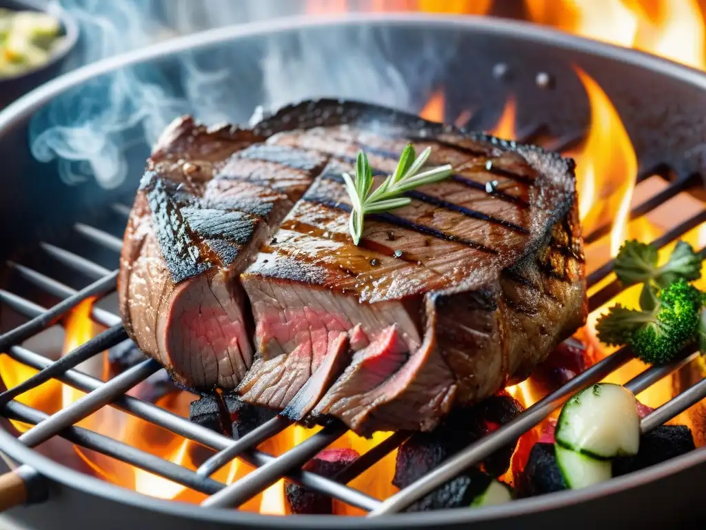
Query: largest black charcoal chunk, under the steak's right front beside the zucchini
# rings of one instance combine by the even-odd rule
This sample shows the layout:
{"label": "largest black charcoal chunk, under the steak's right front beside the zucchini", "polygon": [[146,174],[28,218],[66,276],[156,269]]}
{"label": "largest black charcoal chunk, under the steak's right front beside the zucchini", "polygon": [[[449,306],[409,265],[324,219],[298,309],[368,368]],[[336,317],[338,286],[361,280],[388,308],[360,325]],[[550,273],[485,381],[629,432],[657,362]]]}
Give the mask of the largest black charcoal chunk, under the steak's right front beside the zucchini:
{"label": "largest black charcoal chunk, under the steak's right front beside the zucchini", "polygon": [[[452,411],[444,423],[431,432],[415,432],[397,450],[393,484],[405,488],[429,473],[453,454],[508,423],[522,412],[522,406],[508,394],[486,399],[472,408]],[[481,463],[482,471],[501,476],[510,466],[515,444],[498,450]]]}

